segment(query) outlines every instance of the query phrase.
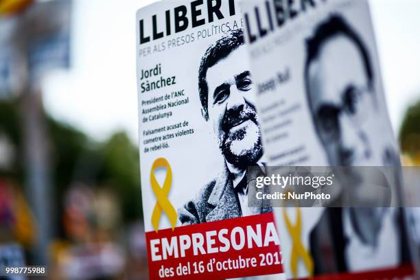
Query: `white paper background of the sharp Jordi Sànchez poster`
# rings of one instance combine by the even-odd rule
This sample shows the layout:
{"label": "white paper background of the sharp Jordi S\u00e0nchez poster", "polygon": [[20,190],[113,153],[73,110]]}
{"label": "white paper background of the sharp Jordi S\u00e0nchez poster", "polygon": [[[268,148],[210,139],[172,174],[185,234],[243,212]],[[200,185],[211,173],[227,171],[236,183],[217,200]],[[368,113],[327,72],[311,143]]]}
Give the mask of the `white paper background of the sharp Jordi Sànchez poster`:
{"label": "white paper background of the sharp Jordi S\u00e0nchez poster", "polygon": [[[205,1],[206,2],[206,1]],[[190,13],[191,1],[176,0],[176,1],[163,1],[152,4],[137,12],[137,25],[139,19],[145,19],[145,33],[152,34],[152,15],[158,15],[159,30],[165,30],[165,11],[173,10],[178,5],[186,5],[188,8],[188,16]],[[140,93],[139,91],[139,145],[140,145],[140,165],[141,165],[141,193],[143,196],[143,214],[145,231],[154,231],[151,224],[152,211],[156,204],[156,197],[150,186],[150,169],[153,162],[164,157],[169,161],[172,167],[172,188],[168,198],[176,210],[191,198],[194,198],[205,184],[215,178],[218,173],[222,171],[224,162],[220,154],[220,150],[216,144],[216,139],[213,136],[213,128],[210,123],[203,119],[200,109],[201,103],[198,95],[198,68],[200,60],[207,50],[207,48],[215,43],[222,34],[211,36],[205,39],[197,40],[194,43],[189,43],[174,49],[166,49],[160,53],[152,54],[144,58],[139,58],[139,47],[153,47],[163,41],[183,36],[185,34],[197,33],[199,30],[211,28],[213,25],[222,25],[222,23],[230,22],[233,26],[233,21],[241,24],[241,12],[239,1],[236,1],[236,15],[229,17],[229,5],[227,1],[222,4],[222,13],[225,18],[218,21],[215,17],[213,23],[202,25],[200,27],[189,28],[184,32],[174,34],[174,27],[172,27],[172,35],[165,36],[159,40],[152,41],[143,45],[137,45],[137,82],[139,82],[139,75],[141,69],[150,69],[156,66],[157,63],[162,65],[162,76],[170,77],[176,75],[176,85],[150,91],[148,93]],[[207,5],[200,5],[202,8],[202,16],[198,19],[206,19],[207,22]],[[171,14],[173,16],[173,12]],[[190,18],[190,16],[189,16]],[[173,22],[173,19],[172,19]],[[241,26],[241,25],[240,25]],[[149,28],[149,29],[147,29]],[[139,44],[139,26],[137,26],[137,44]],[[245,60],[247,58],[244,58]],[[157,78],[150,78],[149,80],[156,80]],[[141,115],[141,100],[150,100],[153,96],[160,96],[164,93],[171,93],[172,91],[180,91],[185,89],[186,96],[189,97],[189,104],[172,108],[173,115],[169,119],[159,119],[149,123],[141,122],[143,118]],[[151,106],[147,106],[150,108]],[[161,110],[160,112],[166,112]],[[143,130],[159,128],[161,126],[176,124],[180,121],[189,121],[188,128],[194,128],[194,135],[178,137],[170,139],[170,148],[160,150],[158,152],[143,152]],[[172,131],[176,132],[176,130]],[[162,134],[159,134],[162,135]],[[150,137],[147,137],[150,138]],[[150,145],[148,145],[150,146]],[[156,173],[156,179],[162,185],[165,179],[165,172]],[[177,226],[180,225],[178,221]],[[170,228],[170,223],[165,214],[161,217],[159,229]]]}

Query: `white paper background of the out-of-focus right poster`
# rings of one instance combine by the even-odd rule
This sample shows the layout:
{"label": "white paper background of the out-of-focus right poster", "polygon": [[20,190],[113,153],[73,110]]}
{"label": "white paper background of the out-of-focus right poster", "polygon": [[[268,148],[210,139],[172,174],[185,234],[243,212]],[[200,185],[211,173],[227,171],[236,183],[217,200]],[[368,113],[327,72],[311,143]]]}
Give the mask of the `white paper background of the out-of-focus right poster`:
{"label": "white paper background of the out-of-focus right poster", "polygon": [[[281,150],[288,150],[296,145],[305,145],[307,151],[310,152],[310,157],[307,161],[299,163],[298,165],[312,165],[325,166],[328,165],[325,152],[316,137],[310,111],[307,105],[305,86],[303,80],[303,67],[305,63],[305,38],[311,37],[312,30],[318,21],[327,19],[331,12],[339,12],[358,32],[362,41],[368,47],[371,55],[371,62],[373,64],[373,72],[375,75],[375,93],[379,102],[380,115],[376,119],[370,120],[371,135],[375,135],[371,143],[375,146],[382,147],[384,145],[393,145],[396,147],[396,142],[393,137],[393,131],[388,119],[388,112],[386,110],[386,102],[384,97],[384,89],[382,88],[380,65],[378,63],[377,51],[375,45],[375,36],[371,24],[371,15],[369,13],[369,5],[364,0],[350,1],[350,0],[329,0],[328,4],[323,4],[323,1],[316,1],[318,4],[317,10],[308,10],[305,15],[300,14],[291,21],[285,23],[285,27],[281,30],[275,30],[274,33],[257,40],[253,45],[248,45],[250,53],[250,64],[253,71],[253,78],[256,84],[261,83],[270,75],[275,75],[278,71],[283,71],[289,67],[291,70],[290,82],[279,86],[276,91],[266,93],[257,98],[257,109],[260,111],[274,102],[285,99],[286,102],[299,103],[303,110],[293,115],[293,124],[290,127],[290,137],[286,141],[277,141],[270,144],[264,143],[266,148],[266,156],[270,159],[272,154],[278,154]],[[242,12],[252,14],[255,6],[259,6],[260,10],[264,10],[264,2],[258,0],[244,0],[242,2]],[[295,5],[294,7],[299,7]],[[274,11],[272,7],[272,11]],[[274,17],[273,17],[274,19]],[[257,30],[255,21],[251,25],[251,30]],[[281,45],[275,46],[274,42],[279,36],[289,34],[289,40]],[[247,37],[246,37],[247,38]],[[253,52],[261,48],[268,48],[271,51],[263,56],[252,56]],[[339,73],[338,73],[339,74]],[[373,124],[372,124],[373,121]],[[261,126],[264,132],[265,124],[261,121]],[[266,135],[263,135],[263,139]],[[287,165],[288,160],[268,161],[269,165]],[[381,161],[372,161],[371,165],[382,165]],[[293,211],[294,210],[294,211]],[[289,238],[289,233],[283,221],[283,209],[275,208],[275,218],[281,239],[281,251],[283,254],[283,261],[286,273],[292,277],[290,272],[290,253],[292,250],[292,242]],[[296,210],[288,209],[289,216],[295,217]],[[318,222],[320,215],[323,212],[321,208],[303,208],[302,211],[302,231],[301,241],[307,250],[309,250],[309,235],[312,228]],[[292,213],[294,212],[294,213]],[[292,224],[294,224],[292,220]],[[307,272],[302,261],[299,261],[299,277],[307,277]]]}

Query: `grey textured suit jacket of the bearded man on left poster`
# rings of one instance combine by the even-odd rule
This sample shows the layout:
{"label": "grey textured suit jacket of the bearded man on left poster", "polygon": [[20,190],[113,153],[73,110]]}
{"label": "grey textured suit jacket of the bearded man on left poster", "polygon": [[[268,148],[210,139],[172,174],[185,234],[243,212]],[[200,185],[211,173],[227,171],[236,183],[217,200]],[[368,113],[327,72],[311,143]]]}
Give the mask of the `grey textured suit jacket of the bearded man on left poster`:
{"label": "grey textured suit jacket of the bearded man on left poster", "polygon": [[[248,185],[248,187],[251,187]],[[271,208],[254,207],[253,213],[268,213]],[[237,194],[233,189],[231,173],[225,165],[218,176],[200,189],[196,198],[178,209],[178,218],[183,225],[200,224],[242,217]]]}

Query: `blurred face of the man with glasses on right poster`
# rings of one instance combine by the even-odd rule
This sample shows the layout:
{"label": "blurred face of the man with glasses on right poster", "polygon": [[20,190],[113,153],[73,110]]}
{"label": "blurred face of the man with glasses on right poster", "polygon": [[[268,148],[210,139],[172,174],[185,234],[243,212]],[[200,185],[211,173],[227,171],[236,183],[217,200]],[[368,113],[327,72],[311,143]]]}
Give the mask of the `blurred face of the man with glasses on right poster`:
{"label": "blurred face of the man with glasses on right poster", "polygon": [[336,36],[310,65],[310,108],[331,165],[365,165],[372,157],[364,122],[373,110],[373,93],[363,63],[353,41]]}

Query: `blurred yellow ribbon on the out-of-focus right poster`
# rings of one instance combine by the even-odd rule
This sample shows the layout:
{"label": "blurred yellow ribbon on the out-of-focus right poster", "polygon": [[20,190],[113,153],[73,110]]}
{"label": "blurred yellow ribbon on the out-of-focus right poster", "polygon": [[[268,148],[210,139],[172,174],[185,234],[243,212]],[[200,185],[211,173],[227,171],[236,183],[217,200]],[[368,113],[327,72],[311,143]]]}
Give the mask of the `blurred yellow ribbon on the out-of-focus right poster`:
{"label": "blurred yellow ribbon on the out-of-focus right poster", "polygon": [[302,259],[303,264],[308,273],[308,277],[314,276],[314,261],[310,253],[306,250],[305,246],[301,241],[301,231],[302,231],[302,213],[299,205],[296,205],[296,224],[292,225],[292,222],[289,219],[288,212],[286,207],[283,207],[283,219],[285,220],[285,225],[288,229],[289,235],[292,238],[292,253],[290,254],[290,268],[292,270],[292,275],[294,278],[298,277],[298,264],[299,259]]}

